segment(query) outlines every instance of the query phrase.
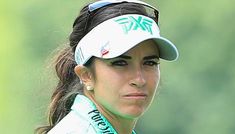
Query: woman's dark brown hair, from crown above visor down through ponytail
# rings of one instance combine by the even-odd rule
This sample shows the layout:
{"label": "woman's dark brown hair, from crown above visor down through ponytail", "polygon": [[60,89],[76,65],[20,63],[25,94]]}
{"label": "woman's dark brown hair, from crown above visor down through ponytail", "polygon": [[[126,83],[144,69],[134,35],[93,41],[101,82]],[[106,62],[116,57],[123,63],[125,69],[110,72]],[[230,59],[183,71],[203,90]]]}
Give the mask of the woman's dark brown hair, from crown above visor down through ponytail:
{"label": "woman's dark brown hair, from crown above visor down through ponytail", "polygon": [[[83,93],[83,85],[74,72],[76,62],[74,51],[78,42],[95,26],[101,22],[123,14],[142,14],[148,16],[145,9],[134,3],[119,3],[102,7],[88,12],[85,6],[73,24],[73,31],[66,46],[55,60],[55,71],[59,78],[58,84],[51,97],[48,109],[48,125],[36,129],[36,133],[47,133],[64,116],[66,116],[77,94]],[[95,44],[94,44],[95,45]],[[89,67],[89,64],[86,64]]]}

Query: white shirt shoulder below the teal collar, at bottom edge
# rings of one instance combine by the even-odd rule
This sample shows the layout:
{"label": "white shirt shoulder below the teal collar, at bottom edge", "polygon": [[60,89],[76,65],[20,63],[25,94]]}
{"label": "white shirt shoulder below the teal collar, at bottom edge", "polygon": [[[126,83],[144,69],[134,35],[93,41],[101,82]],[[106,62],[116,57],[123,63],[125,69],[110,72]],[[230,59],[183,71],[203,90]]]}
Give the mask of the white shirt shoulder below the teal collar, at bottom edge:
{"label": "white shirt shoulder below the teal collar, at bottom edge", "polygon": [[48,134],[96,134],[96,132],[85,117],[71,111]]}

